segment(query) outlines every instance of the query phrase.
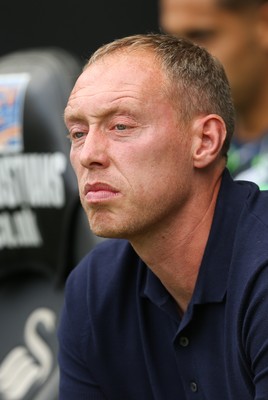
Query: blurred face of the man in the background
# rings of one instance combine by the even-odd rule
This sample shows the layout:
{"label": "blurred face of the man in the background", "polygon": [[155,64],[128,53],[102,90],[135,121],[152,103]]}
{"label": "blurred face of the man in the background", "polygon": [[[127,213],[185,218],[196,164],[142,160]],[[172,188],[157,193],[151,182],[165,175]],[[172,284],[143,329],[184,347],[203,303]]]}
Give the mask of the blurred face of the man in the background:
{"label": "blurred face of the man in the background", "polygon": [[238,111],[254,101],[267,74],[257,10],[235,13],[217,0],[160,0],[159,16],[165,32],[206,47],[222,62]]}

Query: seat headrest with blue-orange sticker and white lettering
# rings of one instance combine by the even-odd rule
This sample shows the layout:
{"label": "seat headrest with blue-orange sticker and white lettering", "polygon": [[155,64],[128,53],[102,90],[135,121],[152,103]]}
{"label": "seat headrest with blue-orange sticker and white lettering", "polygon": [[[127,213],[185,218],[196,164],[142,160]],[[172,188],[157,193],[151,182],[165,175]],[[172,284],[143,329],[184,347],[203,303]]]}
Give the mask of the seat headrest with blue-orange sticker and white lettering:
{"label": "seat headrest with blue-orange sticker and white lettering", "polygon": [[70,258],[79,201],[63,112],[80,70],[57,48],[0,58],[0,276]]}

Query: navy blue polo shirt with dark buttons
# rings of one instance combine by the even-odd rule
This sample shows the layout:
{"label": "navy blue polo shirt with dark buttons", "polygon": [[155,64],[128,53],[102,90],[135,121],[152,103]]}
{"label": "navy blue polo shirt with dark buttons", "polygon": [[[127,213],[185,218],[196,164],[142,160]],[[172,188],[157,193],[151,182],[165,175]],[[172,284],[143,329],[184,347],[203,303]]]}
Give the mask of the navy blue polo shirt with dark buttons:
{"label": "navy blue polo shirt with dark buttons", "polygon": [[70,274],[58,335],[60,400],[267,400],[268,192],[224,172],[182,318],[131,245],[107,240]]}

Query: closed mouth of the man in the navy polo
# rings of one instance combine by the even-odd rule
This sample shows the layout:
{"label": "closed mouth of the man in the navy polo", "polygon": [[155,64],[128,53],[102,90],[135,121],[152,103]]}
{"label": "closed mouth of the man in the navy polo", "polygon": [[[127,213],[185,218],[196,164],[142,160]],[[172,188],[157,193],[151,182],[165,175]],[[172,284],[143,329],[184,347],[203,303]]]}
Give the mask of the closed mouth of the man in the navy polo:
{"label": "closed mouth of the man in the navy polo", "polygon": [[84,198],[88,203],[92,204],[111,200],[118,195],[119,191],[107,183],[88,183],[84,188]]}

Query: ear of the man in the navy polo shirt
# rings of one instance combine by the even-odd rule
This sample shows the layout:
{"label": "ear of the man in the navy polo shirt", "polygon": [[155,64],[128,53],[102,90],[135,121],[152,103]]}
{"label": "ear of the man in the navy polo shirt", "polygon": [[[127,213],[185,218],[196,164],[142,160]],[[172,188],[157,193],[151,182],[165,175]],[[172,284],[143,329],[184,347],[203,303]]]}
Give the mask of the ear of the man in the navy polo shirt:
{"label": "ear of the man in the navy polo shirt", "polygon": [[205,168],[219,157],[226,138],[226,126],[219,115],[210,114],[197,118],[193,129],[194,167]]}

